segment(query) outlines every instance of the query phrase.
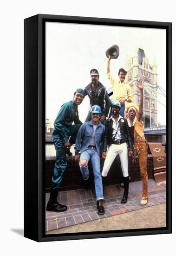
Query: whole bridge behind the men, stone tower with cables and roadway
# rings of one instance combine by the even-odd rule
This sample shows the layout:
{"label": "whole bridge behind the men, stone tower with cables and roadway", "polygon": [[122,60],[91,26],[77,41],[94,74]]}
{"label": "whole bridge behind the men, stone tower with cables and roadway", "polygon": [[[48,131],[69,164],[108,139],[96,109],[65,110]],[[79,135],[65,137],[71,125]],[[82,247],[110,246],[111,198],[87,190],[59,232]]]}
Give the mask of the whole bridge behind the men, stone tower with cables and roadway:
{"label": "whole bridge behind the men, stone tower with cables and roadway", "polygon": [[[166,92],[157,84],[157,65],[155,58],[152,66],[144,53],[143,46],[135,48],[134,56],[126,56],[125,70],[127,75],[125,83],[130,85],[133,102],[139,106],[140,90],[137,87],[139,77],[144,82],[144,106],[143,106],[143,123],[144,135],[148,142],[161,142],[166,145],[166,126],[160,126],[157,120],[158,103],[165,104]],[[113,94],[112,87],[107,89],[109,96]],[[158,95],[162,100],[158,99]],[[165,112],[166,115],[166,112]]]}

